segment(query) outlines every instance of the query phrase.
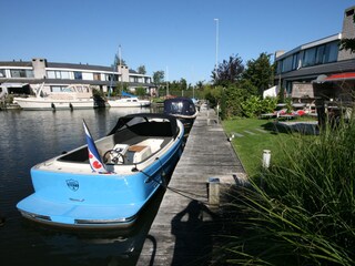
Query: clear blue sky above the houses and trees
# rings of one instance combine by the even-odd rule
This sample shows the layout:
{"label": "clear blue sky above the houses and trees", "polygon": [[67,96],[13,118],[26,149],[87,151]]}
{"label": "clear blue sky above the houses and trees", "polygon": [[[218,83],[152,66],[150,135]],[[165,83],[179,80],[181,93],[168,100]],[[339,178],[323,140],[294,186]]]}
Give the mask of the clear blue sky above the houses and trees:
{"label": "clear blue sky above the houses and trees", "polygon": [[[339,33],[354,0],[0,0],[0,61],[110,66],[211,81],[215,61],[245,64]],[[217,21],[215,20],[217,19]],[[219,34],[217,34],[219,33]],[[217,47],[217,50],[216,50]]]}

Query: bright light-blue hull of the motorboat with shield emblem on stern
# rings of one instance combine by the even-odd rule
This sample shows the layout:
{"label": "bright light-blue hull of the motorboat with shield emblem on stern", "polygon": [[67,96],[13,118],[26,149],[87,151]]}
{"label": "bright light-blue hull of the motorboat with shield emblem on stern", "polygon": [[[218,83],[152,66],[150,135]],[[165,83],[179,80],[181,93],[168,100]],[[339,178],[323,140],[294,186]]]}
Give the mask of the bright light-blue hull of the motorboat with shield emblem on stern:
{"label": "bright light-blue hull of the motorboat with shield emblem on stern", "polygon": [[[183,134],[183,132],[182,132]],[[128,227],[164,184],[182,152],[183,137],[145,168],[129,174],[81,174],[31,168],[34,193],[17,207],[32,221],[84,228]],[[135,167],[135,168],[134,168]]]}

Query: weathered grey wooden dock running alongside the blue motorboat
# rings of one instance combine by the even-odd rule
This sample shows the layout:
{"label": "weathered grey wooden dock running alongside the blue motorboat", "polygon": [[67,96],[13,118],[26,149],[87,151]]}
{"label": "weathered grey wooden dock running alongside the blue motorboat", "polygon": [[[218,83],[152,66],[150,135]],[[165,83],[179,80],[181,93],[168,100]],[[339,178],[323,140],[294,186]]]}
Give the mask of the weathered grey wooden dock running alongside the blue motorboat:
{"label": "weathered grey wooden dock running alongside the blue motorboat", "polygon": [[209,180],[235,183],[244,176],[215,112],[202,106],[136,265],[206,265],[217,229]]}

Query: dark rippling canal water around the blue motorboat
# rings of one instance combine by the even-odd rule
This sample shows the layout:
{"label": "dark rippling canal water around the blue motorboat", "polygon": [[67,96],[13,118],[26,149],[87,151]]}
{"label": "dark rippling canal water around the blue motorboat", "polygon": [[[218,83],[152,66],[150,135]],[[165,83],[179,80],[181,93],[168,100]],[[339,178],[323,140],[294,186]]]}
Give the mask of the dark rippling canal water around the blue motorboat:
{"label": "dark rippling canal water around the blue motorboat", "polygon": [[[7,265],[135,265],[163,190],[128,231],[69,231],[22,218],[16,204],[33,193],[30,168],[85,144],[84,119],[94,140],[128,113],[150,109],[0,112],[0,262]],[[149,239],[149,237],[148,237]]]}

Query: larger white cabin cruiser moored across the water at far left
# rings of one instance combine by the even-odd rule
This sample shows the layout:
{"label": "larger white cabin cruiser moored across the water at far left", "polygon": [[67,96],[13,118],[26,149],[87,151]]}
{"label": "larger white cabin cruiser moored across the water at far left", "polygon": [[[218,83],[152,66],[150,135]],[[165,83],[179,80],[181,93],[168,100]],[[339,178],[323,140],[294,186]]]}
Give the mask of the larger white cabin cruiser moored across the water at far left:
{"label": "larger white cabin cruiser moored across the water at far left", "polygon": [[93,109],[94,100],[90,89],[82,85],[70,85],[62,92],[43,93],[43,84],[36,90],[36,96],[13,98],[13,103],[23,110],[73,110]]}

